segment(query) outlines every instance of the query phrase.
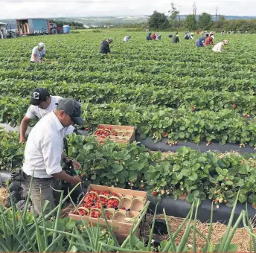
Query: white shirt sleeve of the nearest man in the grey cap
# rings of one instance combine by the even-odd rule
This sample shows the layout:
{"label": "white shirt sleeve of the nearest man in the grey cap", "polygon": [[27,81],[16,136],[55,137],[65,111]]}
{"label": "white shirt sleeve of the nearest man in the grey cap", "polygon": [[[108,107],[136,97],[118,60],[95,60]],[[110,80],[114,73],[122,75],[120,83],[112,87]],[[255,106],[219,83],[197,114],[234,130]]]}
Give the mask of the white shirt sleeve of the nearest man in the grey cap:
{"label": "white shirt sleeve of the nearest man in the grey cap", "polygon": [[42,139],[41,148],[42,156],[45,162],[45,170],[48,175],[60,173],[63,169],[60,166],[62,159],[63,145],[60,143],[60,138],[47,136]]}

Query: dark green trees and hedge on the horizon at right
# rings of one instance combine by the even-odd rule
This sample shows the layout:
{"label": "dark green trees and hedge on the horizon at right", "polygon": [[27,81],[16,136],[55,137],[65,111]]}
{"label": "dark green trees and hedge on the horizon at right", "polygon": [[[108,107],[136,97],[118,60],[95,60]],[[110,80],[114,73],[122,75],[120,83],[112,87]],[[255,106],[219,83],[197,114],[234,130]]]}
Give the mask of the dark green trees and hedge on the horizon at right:
{"label": "dark green trees and hedge on the horizon at right", "polygon": [[180,19],[179,10],[176,9],[174,4],[171,4],[169,13],[170,16],[166,16],[164,13],[155,10],[147,23],[150,30],[256,31],[256,19],[227,20],[224,16],[217,16],[216,14],[216,19],[213,20],[211,14],[208,13],[202,13],[196,18],[196,7],[194,6],[193,14],[186,16],[184,20]]}

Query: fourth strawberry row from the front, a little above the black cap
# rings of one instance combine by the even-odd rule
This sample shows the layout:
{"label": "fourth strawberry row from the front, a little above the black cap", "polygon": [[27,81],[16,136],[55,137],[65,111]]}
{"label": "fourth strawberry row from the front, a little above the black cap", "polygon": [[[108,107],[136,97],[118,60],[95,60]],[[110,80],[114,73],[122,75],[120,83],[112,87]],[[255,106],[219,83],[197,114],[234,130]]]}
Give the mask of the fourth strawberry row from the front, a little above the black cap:
{"label": "fourth strawberry row from the front, a little above the black cap", "polygon": [[28,66],[21,70],[2,70],[0,72],[0,80],[7,78],[13,78],[18,80],[33,80],[44,81],[54,80],[57,82],[66,81],[68,83],[114,83],[114,84],[152,84],[158,86],[170,86],[173,88],[179,87],[195,87],[211,90],[228,90],[229,92],[235,92],[240,90],[254,89],[256,86],[255,77],[241,78],[241,74],[237,79],[231,79],[230,77],[191,77],[189,71],[182,77],[177,77],[175,74],[150,74],[150,73],[135,73],[127,72],[120,73],[114,72],[102,72],[102,71],[60,71],[45,70],[44,65],[41,67]]}

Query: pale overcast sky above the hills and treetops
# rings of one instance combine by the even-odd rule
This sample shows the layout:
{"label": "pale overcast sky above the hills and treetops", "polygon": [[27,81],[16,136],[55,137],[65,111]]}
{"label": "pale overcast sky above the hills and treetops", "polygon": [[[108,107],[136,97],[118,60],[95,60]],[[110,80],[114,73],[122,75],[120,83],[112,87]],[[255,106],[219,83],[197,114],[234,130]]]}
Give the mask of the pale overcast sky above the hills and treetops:
{"label": "pale overcast sky above the hills and treetops", "polygon": [[[172,0],[0,0],[0,19],[61,16],[137,16],[153,10],[167,13]],[[181,14],[192,12],[193,0],[173,0]],[[195,0],[197,13],[256,16],[255,0]]]}

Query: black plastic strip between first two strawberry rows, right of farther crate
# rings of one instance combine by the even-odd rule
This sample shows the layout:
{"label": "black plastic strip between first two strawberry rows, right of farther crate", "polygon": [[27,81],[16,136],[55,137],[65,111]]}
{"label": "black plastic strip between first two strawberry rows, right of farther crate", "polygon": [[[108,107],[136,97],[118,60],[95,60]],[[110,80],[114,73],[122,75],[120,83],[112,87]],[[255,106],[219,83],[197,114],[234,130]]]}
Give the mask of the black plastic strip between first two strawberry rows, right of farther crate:
{"label": "black plastic strip between first two strawberry rows, right of farther crate", "polygon": [[168,138],[162,138],[161,141],[154,143],[153,139],[150,137],[147,137],[145,139],[141,138],[141,135],[138,133],[135,135],[135,140],[141,142],[145,147],[147,147],[150,150],[153,151],[161,151],[161,152],[176,152],[179,147],[185,146],[190,147],[192,150],[198,150],[202,153],[205,153],[207,151],[214,151],[218,150],[220,153],[230,152],[230,151],[237,151],[239,153],[256,153],[256,150],[254,150],[254,147],[242,147],[240,148],[238,144],[225,144],[221,145],[219,143],[213,143],[209,146],[206,146],[206,142],[202,141],[201,144],[196,144],[193,142],[184,142],[179,141],[177,146],[170,146],[166,145],[165,143],[168,141]]}

